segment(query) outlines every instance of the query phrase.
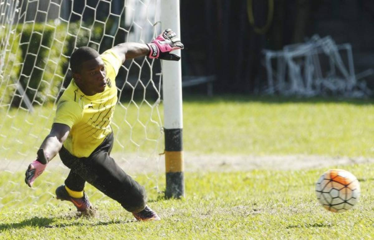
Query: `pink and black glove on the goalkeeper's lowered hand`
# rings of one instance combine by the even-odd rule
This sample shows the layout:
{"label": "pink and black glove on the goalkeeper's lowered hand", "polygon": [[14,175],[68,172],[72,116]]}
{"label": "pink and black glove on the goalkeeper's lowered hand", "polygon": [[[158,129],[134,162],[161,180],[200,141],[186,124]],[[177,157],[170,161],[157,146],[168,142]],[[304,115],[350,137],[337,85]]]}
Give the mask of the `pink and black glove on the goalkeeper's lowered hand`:
{"label": "pink and black glove on the goalkeeper's lowered hand", "polygon": [[35,161],[28,165],[25,172],[25,183],[31,188],[35,179],[43,173],[48,163],[48,157],[45,155],[43,149],[39,149],[38,157]]}

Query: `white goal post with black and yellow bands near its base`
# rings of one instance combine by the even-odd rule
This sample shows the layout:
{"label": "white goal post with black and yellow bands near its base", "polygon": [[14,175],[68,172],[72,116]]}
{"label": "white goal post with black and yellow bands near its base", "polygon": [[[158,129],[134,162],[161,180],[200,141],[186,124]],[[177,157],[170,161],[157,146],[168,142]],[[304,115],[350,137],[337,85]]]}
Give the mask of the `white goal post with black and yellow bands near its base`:
{"label": "white goal post with black and yellow bands near its base", "polygon": [[[179,0],[170,0],[167,4],[161,4],[161,29],[166,28],[173,30],[178,37],[181,36]],[[181,40],[183,43],[183,39]],[[175,50],[173,53],[181,56],[180,50]],[[166,198],[184,196],[182,59],[162,61]]]}

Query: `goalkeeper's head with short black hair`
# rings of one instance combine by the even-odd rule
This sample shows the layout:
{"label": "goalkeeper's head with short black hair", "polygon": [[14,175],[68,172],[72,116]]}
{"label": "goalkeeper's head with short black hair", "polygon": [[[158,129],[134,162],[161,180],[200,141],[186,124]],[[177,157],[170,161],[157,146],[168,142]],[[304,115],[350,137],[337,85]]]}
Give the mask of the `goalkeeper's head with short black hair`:
{"label": "goalkeeper's head with short black hair", "polygon": [[70,56],[70,68],[79,89],[88,96],[103,92],[106,86],[104,61],[91,47],[80,47]]}

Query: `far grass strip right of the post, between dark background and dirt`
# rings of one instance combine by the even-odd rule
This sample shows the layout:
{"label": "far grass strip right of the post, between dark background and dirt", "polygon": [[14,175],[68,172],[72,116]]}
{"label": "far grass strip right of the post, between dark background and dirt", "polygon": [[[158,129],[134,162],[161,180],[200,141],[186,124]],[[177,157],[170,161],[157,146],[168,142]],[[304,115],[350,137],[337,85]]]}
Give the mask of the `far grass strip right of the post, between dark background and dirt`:
{"label": "far grass strip right of the post, between dark background and dirt", "polygon": [[370,100],[225,96],[187,100],[183,114],[186,151],[374,156]]}

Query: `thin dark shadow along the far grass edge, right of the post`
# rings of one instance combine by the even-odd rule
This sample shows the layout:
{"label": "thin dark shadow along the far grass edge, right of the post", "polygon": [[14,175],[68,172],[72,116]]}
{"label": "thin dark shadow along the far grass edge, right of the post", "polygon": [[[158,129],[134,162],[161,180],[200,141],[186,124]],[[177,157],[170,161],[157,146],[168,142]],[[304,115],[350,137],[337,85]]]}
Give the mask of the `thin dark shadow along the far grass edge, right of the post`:
{"label": "thin dark shadow along the far grass edge, right of the post", "polygon": [[268,104],[288,104],[288,103],[346,103],[353,105],[372,105],[374,99],[359,99],[359,98],[343,98],[343,97],[298,97],[298,96],[270,96],[270,95],[217,95],[213,97],[203,95],[184,95],[183,102],[185,103],[217,103],[217,102],[261,102]]}

